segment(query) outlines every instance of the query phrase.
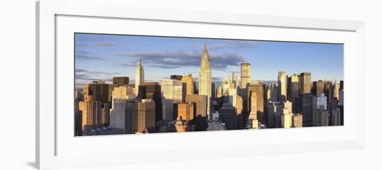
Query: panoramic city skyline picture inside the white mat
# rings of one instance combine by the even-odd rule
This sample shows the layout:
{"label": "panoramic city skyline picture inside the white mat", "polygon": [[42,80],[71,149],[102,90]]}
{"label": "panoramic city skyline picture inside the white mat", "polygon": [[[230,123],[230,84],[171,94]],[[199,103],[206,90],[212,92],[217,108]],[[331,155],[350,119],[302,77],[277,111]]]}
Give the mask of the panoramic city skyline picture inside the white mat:
{"label": "panoramic city skyline picture inside the white mat", "polygon": [[343,126],[343,51],[74,33],[74,136]]}

